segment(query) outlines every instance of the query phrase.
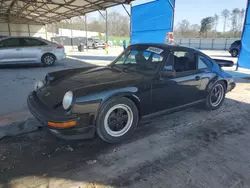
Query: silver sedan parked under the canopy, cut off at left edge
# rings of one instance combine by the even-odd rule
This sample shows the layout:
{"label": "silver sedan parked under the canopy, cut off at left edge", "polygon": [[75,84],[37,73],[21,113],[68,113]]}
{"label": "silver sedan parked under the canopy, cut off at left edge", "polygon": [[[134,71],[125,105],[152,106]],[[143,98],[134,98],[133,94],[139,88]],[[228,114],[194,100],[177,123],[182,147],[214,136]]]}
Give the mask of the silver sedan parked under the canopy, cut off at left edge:
{"label": "silver sedan parked under the canopy, cut off at left edge", "polygon": [[0,38],[1,64],[41,63],[52,66],[56,60],[66,58],[62,45],[35,37]]}

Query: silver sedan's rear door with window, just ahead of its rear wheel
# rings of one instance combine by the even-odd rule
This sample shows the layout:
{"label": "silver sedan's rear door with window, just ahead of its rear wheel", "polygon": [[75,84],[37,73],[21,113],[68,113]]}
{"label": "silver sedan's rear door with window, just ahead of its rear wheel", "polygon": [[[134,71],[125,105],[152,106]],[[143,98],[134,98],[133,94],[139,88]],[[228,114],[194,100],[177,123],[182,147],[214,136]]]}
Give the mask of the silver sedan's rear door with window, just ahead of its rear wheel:
{"label": "silver sedan's rear door with window, just ahead of its rear wheel", "polygon": [[44,47],[47,45],[45,42],[35,38],[21,38],[22,56],[26,63],[40,63]]}

